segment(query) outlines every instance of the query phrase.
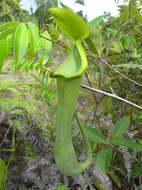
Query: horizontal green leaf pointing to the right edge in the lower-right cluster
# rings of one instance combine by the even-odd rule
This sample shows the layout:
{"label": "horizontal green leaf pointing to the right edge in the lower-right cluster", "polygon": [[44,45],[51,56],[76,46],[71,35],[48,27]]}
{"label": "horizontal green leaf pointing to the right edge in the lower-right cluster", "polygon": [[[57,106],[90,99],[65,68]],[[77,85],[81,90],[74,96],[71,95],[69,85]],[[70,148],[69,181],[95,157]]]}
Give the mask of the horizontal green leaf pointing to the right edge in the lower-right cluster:
{"label": "horizontal green leaf pointing to the right edge in the lower-right cluster", "polygon": [[126,146],[128,148],[142,151],[142,146],[140,144],[137,144],[128,138],[112,139],[112,144],[119,145],[119,146]]}

